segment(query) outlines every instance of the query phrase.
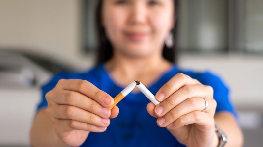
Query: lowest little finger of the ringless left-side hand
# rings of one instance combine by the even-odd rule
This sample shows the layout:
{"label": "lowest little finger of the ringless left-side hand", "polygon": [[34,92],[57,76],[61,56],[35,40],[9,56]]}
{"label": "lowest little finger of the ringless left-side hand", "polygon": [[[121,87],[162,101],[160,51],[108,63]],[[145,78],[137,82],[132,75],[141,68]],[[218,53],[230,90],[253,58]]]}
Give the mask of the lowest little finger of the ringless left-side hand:
{"label": "lowest little finger of the ringless left-side hand", "polygon": [[58,130],[72,131],[72,130],[83,130],[90,132],[104,132],[107,127],[98,127],[89,123],[83,123],[70,119],[56,119],[53,123],[57,126]]}

